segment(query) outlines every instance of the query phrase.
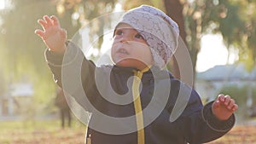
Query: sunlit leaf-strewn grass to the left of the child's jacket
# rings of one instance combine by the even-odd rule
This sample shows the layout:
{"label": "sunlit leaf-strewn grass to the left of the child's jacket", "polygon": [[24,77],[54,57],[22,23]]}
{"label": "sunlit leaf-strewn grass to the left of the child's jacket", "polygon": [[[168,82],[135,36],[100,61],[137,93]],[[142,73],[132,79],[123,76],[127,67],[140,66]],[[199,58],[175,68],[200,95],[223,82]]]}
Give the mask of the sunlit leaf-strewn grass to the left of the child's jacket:
{"label": "sunlit leaf-strewn grass to the left of the child's jacket", "polygon": [[[61,129],[58,120],[0,122],[1,144],[83,144],[86,127],[73,120]],[[63,142],[65,141],[65,142]]]}

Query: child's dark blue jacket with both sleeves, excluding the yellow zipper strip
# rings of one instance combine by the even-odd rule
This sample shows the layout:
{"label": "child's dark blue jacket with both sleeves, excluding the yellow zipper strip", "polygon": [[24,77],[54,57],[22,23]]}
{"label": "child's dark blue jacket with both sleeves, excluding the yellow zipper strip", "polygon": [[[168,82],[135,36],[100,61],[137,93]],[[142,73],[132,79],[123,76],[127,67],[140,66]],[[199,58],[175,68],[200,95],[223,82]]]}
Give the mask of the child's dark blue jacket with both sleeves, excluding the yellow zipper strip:
{"label": "child's dark blue jacket with both sleeves, excluding the yellow zipper strip", "polygon": [[[92,112],[87,133],[92,144],[137,143],[131,95],[137,69],[97,67],[72,43],[65,56],[49,50],[45,56],[55,82]],[[156,66],[143,73],[140,88],[146,144],[205,143],[221,137],[235,124],[234,115],[219,121],[212,114],[212,102],[203,107],[194,89]]]}

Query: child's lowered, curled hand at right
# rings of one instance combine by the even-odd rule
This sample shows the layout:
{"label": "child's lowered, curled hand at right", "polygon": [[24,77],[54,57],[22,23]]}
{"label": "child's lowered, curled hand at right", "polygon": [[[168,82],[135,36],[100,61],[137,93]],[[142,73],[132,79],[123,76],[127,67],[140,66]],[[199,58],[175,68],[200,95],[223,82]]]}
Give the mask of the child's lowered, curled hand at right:
{"label": "child's lowered, curled hand at right", "polygon": [[227,120],[237,108],[238,105],[230,95],[218,95],[218,99],[212,103],[212,113],[219,120]]}

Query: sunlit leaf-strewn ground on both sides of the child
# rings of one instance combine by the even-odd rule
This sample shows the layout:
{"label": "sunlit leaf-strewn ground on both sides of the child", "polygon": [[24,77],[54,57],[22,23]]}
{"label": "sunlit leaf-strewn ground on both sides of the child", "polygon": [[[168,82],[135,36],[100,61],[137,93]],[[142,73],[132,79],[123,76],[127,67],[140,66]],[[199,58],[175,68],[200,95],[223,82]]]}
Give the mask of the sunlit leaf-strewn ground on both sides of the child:
{"label": "sunlit leaf-strewn ground on both sides of the child", "polygon": [[[61,129],[57,121],[0,122],[1,144],[84,144],[85,126],[73,122]],[[222,138],[208,144],[256,144],[256,125],[236,125]]]}

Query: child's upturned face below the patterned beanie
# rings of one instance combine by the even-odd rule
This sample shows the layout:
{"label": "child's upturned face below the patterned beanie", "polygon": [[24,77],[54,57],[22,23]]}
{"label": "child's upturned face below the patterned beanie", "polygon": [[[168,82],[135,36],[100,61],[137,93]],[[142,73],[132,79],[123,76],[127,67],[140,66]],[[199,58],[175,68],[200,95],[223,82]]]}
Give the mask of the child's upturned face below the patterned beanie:
{"label": "child's upturned face below the patterned beanie", "polygon": [[153,64],[148,43],[136,29],[124,23],[119,24],[114,32],[111,56],[118,66],[143,70]]}

